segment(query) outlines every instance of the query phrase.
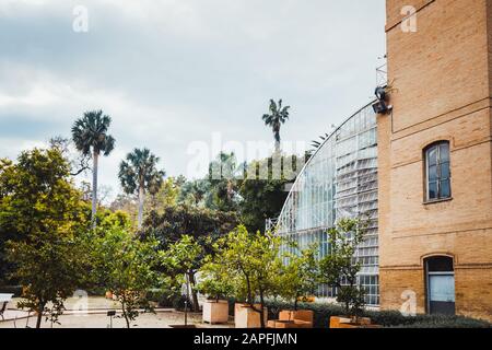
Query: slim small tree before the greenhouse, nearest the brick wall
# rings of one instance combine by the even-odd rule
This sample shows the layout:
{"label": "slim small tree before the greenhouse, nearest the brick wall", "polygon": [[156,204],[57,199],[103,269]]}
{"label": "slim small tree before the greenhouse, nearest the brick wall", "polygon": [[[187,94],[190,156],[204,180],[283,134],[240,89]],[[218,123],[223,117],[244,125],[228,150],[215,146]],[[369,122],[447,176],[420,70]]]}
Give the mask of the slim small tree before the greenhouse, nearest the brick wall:
{"label": "slim small tree before the greenhouse, nearest the brick wall", "polygon": [[328,230],[329,254],[319,261],[321,283],[337,289],[337,301],[347,316],[359,317],[363,311],[365,290],[358,283],[361,261],[356,249],[364,242],[367,223],[359,219],[342,219]]}

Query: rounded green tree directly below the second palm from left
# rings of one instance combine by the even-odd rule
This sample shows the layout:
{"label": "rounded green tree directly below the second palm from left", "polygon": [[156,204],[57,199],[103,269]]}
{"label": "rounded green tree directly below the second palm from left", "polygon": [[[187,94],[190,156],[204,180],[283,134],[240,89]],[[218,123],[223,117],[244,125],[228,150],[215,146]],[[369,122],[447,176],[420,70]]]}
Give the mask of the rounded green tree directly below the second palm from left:
{"label": "rounded green tree directly below the second palm from left", "polygon": [[130,328],[139,308],[152,311],[147,292],[160,287],[157,242],[138,240],[128,230],[98,230],[90,236],[95,278],[116,295]]}

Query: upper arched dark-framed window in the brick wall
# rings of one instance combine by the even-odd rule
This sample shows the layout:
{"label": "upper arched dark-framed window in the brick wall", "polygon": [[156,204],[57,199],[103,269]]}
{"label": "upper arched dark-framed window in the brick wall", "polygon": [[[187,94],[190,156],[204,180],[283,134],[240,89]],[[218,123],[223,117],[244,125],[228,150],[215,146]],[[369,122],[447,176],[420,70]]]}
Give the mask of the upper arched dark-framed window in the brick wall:
{"label": "upper arched dark-framed window in the brick wall", "polygon": [[452,197],[449,142],[433,143],[425,149],[424,154],[425,199],[427,201],[449,199]]}

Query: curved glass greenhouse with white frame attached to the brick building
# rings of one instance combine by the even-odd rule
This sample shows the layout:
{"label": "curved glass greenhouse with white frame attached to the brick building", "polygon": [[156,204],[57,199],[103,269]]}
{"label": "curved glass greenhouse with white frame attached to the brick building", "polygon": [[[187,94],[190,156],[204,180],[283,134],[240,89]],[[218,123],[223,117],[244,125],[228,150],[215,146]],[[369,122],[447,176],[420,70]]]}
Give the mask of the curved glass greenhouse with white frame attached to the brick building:
{"label": "curved glass greenhouse with white frame attached to the brick building", "polygon": [[[277,222],[277,232],[307,247],[328,252],[327,229],[342,218],[367,218],[365,242],[358,249],[360,283],[366,303],[379,304],[377,235],[377,125],[367,105],[351,116],[318,148],[297,176]],[[284,247],[289,249],[289,247]],[[332,298],[325,285],[318,298]]]}

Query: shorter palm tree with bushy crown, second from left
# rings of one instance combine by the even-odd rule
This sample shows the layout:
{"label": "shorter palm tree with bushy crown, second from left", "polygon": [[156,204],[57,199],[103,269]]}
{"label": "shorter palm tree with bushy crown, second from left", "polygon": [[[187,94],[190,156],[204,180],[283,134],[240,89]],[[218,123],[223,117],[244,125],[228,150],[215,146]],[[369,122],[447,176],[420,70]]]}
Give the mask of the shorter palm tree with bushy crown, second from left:
{"label": "shorter palm tree with bushy crown, second from left", "polygon": [[150,150],[134,149],[128,153],[126,161],[119,165],[119,180],[125,192],[131,195],[138,191],[139,195],[139,215],[138,228],[142,228],[143,202],[145,191],[154,195],[162,186],[164,171],[159,171],[156,165],[160,159],[152,154]]}

